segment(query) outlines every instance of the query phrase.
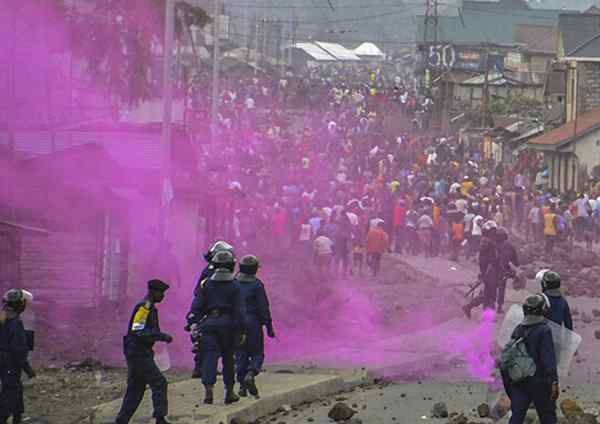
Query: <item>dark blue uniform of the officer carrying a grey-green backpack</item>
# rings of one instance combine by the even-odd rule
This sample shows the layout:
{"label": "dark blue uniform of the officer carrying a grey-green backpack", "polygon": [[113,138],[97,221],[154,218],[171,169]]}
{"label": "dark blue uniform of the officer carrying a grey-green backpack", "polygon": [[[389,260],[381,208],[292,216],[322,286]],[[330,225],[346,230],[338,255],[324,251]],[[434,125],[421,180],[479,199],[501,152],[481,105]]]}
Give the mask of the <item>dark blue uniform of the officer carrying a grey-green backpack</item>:
{"label": "dark blue uniform of the officer carrying a grey-green backpack", "polygon": [[512,383],[502,375],[506,394],[511,400],[512,417],[510,424],[522,424],[529,404],[533,402],[541,424],[556,424],[556,402],[552,400],[552,383],[558,382],[556,355],[552,330],[545,322],[518,326],[512,337],[519,338],[530,331],[525,340],[527,353],[536,365],[533,377],[519,383]]}

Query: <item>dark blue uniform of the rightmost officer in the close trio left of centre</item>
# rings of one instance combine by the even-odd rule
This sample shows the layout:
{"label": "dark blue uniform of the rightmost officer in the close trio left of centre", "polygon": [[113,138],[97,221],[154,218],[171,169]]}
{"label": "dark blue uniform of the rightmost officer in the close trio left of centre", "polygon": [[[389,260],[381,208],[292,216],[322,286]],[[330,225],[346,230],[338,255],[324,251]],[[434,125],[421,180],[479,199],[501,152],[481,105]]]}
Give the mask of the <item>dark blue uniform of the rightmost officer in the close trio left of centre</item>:
{"label": "dark blue uniform of the rightmost officer in the close trio left of centre", "polygon": [[258,278],[238,279],[242,320],[246,328],[246,343],[237,352],[237,380],[244,381],[252,371],[258,375],[265,360],[263,326],[271,325],[271,311],[265,286]]}

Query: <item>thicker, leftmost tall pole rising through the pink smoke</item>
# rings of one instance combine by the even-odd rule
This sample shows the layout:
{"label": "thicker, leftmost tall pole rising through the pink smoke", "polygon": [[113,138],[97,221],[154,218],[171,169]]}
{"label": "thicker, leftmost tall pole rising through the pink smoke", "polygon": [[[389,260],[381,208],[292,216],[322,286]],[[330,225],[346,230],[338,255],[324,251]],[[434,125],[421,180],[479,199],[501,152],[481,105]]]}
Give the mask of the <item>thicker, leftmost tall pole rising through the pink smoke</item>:
{"label": "thicker, leftmost tall pole rising through the pink smoke", "polygon": [[162,167],[161,167],[161,213],[159,218],[159,246],[167,235],[171,186],[171,121],[173,106],[173,41],[175,33],[175,0],[165,0],[165,43],[163,46],[163,122],[162,122]]}

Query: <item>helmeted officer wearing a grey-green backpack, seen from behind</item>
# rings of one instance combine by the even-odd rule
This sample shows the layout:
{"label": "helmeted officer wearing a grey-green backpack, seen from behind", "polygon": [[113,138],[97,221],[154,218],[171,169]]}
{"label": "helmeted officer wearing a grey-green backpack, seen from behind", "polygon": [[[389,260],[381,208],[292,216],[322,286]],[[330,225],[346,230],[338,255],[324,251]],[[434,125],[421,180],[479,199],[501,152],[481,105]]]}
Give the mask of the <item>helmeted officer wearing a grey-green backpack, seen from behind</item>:
{"label": "helmeted officer wearing a grey-green backpack, seen from behind", "polygon": [[522,424],[533,402],[541,424],[556,424],[556,400],[559,395],[558,373],[552,330],[545,314],[550,302],[544,294],[529,296],[523,304],[525,318],[512,334],[524,338],[527,353],[536,366],[535,374],[520,382],[512,382],[506,372],[502,381],[511,400],[510,424]]}

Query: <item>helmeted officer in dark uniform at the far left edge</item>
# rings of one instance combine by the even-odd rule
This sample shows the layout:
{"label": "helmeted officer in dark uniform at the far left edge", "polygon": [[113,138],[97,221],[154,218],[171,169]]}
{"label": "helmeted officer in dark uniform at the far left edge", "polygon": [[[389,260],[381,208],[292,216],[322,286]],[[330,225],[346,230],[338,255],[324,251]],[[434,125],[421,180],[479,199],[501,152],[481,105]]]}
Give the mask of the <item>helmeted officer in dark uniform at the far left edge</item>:
{"label": "helmeted officer in dark uniform at the far left edge", "polygon": [[0,312],[0,424],[12,416],[13,424],[22,422],[25,412],[21,374],[35,374],[29,367],[27,355],[32,349],[21,314],[33,296],[26,290],[12,289],[2,298]]}

